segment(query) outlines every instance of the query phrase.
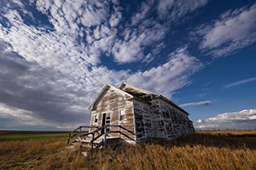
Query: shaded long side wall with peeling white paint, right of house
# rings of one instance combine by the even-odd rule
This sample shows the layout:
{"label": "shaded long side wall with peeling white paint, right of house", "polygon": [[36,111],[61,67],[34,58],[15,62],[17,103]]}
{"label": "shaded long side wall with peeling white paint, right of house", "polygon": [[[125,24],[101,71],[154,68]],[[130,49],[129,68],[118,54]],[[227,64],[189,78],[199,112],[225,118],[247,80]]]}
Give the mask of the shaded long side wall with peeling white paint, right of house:
{"label": "shaded long side wall with peeling white paint, right of house", "polygon": [[150,104],[133,102],[137,140],[175,139],[183,134],[195,132],[188,115],[182,111],[162,99],[152,98]]}

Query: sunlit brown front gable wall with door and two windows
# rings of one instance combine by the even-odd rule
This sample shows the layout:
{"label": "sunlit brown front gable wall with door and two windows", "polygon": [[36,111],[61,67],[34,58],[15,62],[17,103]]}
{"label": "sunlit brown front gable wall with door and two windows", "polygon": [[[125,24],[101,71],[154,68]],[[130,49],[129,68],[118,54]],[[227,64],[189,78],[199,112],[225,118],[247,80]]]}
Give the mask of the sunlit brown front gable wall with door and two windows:
{"label": "sunlit brown front gable wall with door and two windows", "polygon": [[[135,132],[133,123],[133,105],[131,101],[131,96],[120,93],[118,90],[110,87],[102,94],[100,101],[96,104],[96,111],[91,112],[90,126],[102,127],[102,114],[111,113],[111,123],[112,125],[121,125],[129,129],[131,132]],[[125,120],[119,121],[119,110],[125,110]],[[95,116],[98,115],[98,121],[95,121]],[[119,127],[111,127],[111,131],[119,131]],[[124,132],[124,131],[122,131]],[[126,132],[124,132],[126,133]],[[131,133],[126,133],[132,139],[135,139],[134,135]],[[119,133],[109,134],[112,137],[119,137]],[[122,137],[126,139],[125,136]]]}

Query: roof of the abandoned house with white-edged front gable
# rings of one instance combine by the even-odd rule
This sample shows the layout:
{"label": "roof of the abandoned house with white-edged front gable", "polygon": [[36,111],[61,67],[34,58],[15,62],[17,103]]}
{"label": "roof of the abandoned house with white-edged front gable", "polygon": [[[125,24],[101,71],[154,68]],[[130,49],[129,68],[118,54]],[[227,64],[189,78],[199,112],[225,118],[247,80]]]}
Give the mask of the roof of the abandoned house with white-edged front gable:
{"label": "roof of the abandoned house with white-edged front gable", "polygon": [[90,111],[95,110],[95,106],[100,102],[100,99],[102,99],[103,95],[107,93],[109,88],[113,88],[121,94],[126,94],[126,95],[130,96],[131,99],[137,99],[137,100],[140,100],[145,103],[148,103],[148,98],[152,99],[152,97],[154,99],[162,99],[166,103],[172,105],[173,107],[177,108],[178,110],[183,111],[183,113],[189,115],[189,113],[187,111],[184,111],[178,105],[174,104],[169,99],[166,99],[161,94],[156,94],[154,92],[148,91],[143,88],[137,88],[136,86],[133,86],[126,82],[122,82],[122,84],[119,86],[119,88],[117,88],[111,84],[106,84],[106,86],[102,89],[102,92],[96,97],[95,101],[90,105],[90,108],[89,108]]}

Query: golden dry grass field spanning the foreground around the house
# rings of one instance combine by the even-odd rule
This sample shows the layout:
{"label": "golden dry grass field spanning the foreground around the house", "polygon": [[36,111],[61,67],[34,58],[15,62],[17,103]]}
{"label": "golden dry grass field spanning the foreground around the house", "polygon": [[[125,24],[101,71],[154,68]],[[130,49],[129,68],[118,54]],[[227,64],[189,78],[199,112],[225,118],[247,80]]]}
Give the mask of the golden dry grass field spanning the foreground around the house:
{"label": "golden dry grass field spanning the foreground around the house", "polygon": [[0,142],[0,169],[256,169],[256,131],[200,131],[83,156],[67,139]]}

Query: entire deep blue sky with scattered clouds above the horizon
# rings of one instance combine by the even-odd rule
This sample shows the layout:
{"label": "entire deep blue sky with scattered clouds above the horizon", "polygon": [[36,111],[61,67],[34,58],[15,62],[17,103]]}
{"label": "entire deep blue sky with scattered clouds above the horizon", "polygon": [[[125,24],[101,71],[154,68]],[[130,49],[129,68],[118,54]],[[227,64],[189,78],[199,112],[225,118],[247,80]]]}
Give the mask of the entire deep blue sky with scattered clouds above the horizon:
{"label": "entire deep blue sky with scattered clouds above the horizon", "polygon": [[106,83],[162,94],[196,129],[256,128],[256,3],[0,1],[0,129],[90,122]]}

